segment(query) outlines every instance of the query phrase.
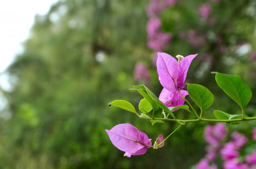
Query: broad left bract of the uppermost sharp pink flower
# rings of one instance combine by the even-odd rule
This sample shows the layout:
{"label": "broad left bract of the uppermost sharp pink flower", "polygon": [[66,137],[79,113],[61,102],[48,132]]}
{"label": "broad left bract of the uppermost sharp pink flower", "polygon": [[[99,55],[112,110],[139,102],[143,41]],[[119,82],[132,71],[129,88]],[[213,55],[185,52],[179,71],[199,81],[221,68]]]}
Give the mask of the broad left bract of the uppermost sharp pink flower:
{"label": "broad left bract of the uppermost sharp pink flower", "polygon": [[161,85],[170,92],[177,91],[179,73],[177,60],[169,54],[158,52],[156,67]]}

